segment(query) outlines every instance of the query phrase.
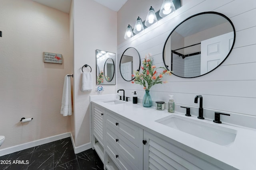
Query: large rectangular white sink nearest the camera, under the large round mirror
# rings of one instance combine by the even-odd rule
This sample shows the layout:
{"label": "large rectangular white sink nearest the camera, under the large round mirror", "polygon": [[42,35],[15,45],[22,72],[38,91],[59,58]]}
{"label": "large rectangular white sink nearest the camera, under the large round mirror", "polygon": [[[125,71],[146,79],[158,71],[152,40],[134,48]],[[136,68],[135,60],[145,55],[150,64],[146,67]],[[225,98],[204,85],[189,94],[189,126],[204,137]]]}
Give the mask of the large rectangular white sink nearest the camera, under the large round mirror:
{"label": "large rectangular white sink nearest the camera, under the large round mirror", "polygon": [[236,139],[237,131],[235,129],[221,127],[179,115],[170,115],[158,119],[156,122],[222,146],[229,145]]}

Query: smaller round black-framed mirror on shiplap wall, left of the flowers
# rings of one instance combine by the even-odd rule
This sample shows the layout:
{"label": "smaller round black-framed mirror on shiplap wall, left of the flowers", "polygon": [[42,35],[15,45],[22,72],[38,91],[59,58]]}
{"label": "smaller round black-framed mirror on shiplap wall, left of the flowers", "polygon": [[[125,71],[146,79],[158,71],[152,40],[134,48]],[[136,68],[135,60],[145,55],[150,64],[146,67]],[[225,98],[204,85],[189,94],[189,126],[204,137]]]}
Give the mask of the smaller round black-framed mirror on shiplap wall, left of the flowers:
{"label": "smaller round black-framed mirror on shiplap wall, left of the flowers", "polygon": [[135,48],[129,47],[124,51],[120,59],[119,69],[124,80],[132,81],[134,79],[132,77],[133,70],[140,70],[140,54]]}

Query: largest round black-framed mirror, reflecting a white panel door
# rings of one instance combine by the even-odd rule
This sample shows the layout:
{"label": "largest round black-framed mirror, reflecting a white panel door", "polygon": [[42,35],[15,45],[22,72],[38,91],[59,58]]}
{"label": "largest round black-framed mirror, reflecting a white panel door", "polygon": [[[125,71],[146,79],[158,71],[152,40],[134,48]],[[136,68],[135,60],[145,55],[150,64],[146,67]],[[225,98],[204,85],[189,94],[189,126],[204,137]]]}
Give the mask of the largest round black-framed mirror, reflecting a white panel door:
{"label": "largest round black-framed mirror, reflecting a white panel door", "polygon": [[179,77],[202,76],[226,60],[235,37],[233,23],[223,14],[195,14],[177,25],[166,39],[164,64]]}

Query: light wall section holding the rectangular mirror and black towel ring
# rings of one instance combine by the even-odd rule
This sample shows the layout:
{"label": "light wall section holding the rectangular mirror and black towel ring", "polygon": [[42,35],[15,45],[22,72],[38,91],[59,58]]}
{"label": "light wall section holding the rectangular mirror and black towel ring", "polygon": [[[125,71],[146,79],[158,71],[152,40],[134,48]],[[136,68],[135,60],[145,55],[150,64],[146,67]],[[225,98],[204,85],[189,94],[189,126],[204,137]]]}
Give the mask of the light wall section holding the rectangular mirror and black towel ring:
{"label": "light wall section holding the rectangular mirror and black towel ring", "polygon": [[[96,88],[96,49],[116,53],[117,12],[93,0],[74,0],[74,120],[76,147],[90,143],[90,95],[95,90],[81,92],[82,66],[92,67]],[[83,68],[89,71],[90,68]],[[103,85],[102,94],[116,93],[116,85]]]}

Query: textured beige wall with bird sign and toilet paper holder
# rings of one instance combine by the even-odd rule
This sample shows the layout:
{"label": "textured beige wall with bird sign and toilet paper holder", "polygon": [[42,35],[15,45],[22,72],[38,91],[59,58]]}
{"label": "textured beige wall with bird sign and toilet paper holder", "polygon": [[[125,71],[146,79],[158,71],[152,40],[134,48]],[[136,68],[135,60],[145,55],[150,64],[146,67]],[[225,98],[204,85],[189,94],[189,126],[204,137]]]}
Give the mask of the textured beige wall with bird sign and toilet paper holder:
{"label": "textured beige wall with bird sign and toilet paper holder", "polygon": [[[64,76],[70,72],[69,15],[32,0],[0,0],[1,149],[70,131],[60,114]],[[44,63],[43,52],[63,64]],[[33,117],[20,123],[22,117]]]}

